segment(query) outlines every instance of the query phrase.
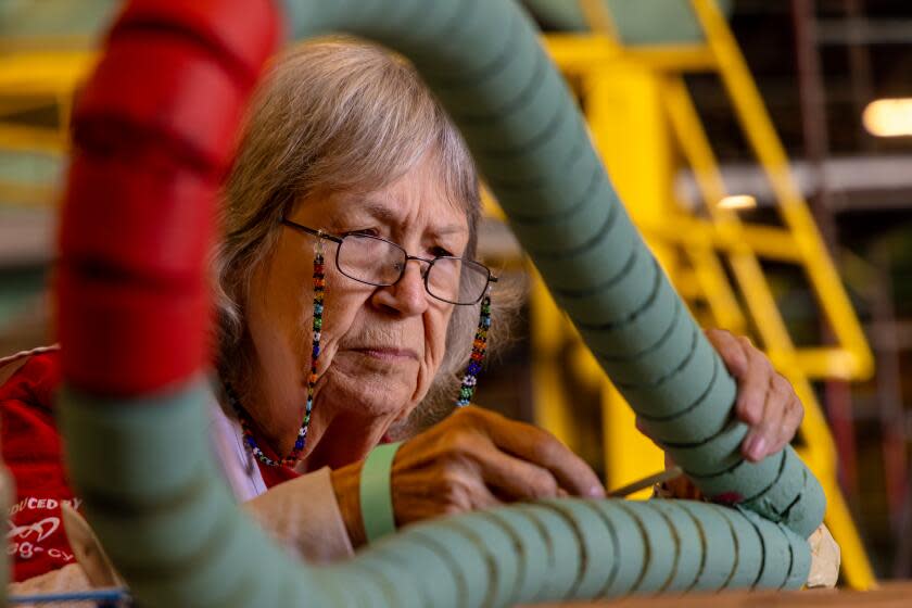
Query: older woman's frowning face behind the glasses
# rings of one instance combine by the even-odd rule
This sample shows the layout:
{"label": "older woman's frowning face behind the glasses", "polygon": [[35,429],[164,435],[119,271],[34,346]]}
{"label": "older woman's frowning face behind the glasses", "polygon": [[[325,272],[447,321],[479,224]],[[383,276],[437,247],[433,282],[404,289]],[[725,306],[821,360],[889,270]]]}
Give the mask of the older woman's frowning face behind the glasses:
{"label": "older woman's frowning face behind the glasses", "polygon": [[[426,161],[382,190],[302,201],[289,219],[340,236],[382,237],[418,257],[461,256],[469,239],[466,214],[445,197],[438,175]],[[282,228],[275,254],[254,275],[246,308],[257,369],[256,403],[245,405],[283,453],[306,398],[315,243],[316,237]],[[324,240],[326,296],[308,448],[333,422],[378,440],[404,419],[441,365],[453,312],[425,290],[427,265],[409,261],[396,284],[372,287],[339,273],[337,246]]]}

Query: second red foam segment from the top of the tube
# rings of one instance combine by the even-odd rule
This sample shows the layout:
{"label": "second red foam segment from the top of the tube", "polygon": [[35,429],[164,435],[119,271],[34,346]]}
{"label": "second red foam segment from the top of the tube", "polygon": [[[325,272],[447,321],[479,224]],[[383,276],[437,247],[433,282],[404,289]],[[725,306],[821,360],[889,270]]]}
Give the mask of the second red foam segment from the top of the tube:
{"label": "second red foam segment from the top of the tube", "polygon": [[137,33],[112,42],[81,94],[74,113],[76,143],[141,155],[151,138],[188,164],[221,174],[245,101],[224,67],[200,47]]}

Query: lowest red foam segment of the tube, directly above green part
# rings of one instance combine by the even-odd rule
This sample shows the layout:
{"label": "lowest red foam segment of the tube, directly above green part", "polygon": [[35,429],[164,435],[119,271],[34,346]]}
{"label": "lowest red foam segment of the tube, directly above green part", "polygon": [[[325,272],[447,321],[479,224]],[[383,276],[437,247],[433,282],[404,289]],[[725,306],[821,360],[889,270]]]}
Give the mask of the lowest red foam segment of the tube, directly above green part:
{"label": "lowest red foam segment of the tube, directly above green part", "polygon": [[56,278],[66,381],[127,396],[186,381],[208,362],[207,286],[185,292],[94,281],[67,266]]}

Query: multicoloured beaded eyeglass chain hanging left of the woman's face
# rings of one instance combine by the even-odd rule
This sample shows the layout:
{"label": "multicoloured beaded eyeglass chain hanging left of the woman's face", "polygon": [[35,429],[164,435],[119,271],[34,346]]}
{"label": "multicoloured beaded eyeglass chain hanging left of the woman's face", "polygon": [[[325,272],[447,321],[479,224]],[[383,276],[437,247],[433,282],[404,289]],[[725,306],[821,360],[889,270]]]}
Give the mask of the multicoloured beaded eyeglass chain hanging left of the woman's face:
{"label": "multicoloured beaded eyeglass chain hanging left of the woman's face", "polygon": [[294,448],[288,456],[281,460],[275,460],[266,456],[256,443],[253,436],[253,429],[251,428],[250,419],[241,406],[237,393],[231,389],[230,384],[225,385],[225,393],[228,401],[238,414],[238,420],[241,422],[241,430],[244,435],[244,444],[253,456],[269,467],[293,467],[301,459],[301,453],[307,444],[307,429],[311,427],[311,411],[314,409],[314,387],[317,383],[317,363],[320,358],[320,337],[322,334],[322,312],[324,312],[324,294],[326,292],[326,275],[324,264],[324,248],[322,238],[317,237],[317,244],[314,251],[314,325],[313,325],[313,343],[311,351],[311,375],[307,378],[307,404],[304,408],[304,421],[301,422],[301,428],[297,429],[297,439],[294,440]]}

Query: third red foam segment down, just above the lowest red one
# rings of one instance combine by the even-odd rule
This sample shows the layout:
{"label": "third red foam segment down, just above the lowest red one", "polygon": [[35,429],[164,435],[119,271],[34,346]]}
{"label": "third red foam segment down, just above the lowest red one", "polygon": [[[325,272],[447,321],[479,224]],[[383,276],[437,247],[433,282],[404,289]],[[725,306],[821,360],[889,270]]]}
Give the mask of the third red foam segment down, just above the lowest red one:
{"label": "third red foam segment down, just above the lowest red one", "polygon": [[205,282],[218,182],[156,168],[148,160],[77,156],[63,207],[64,258],[106,259],[151,280]]}

